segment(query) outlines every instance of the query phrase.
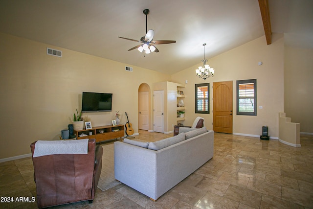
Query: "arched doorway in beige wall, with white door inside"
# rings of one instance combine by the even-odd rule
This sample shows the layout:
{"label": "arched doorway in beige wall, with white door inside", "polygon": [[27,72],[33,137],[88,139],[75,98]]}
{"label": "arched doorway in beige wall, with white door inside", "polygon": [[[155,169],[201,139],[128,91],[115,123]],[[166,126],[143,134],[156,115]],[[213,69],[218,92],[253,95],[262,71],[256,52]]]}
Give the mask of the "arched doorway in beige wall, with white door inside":
{"label": "arched doorway in beige wall, with white door inside", "polygon": [[146,83],[138,88],[138,129],[151,130],[151,90]]}

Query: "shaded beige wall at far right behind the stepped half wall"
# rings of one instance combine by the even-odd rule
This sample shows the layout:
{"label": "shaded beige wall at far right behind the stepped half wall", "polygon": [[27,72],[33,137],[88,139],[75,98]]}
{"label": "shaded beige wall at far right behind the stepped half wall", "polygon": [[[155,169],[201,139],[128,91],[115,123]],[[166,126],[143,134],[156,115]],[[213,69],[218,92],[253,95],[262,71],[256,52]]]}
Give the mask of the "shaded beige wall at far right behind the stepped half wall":
{"label": "shaded beige wall at far right behind the stepped half wall", "polygon": [[285,47],[285,113],[313,133],[313,49]]}

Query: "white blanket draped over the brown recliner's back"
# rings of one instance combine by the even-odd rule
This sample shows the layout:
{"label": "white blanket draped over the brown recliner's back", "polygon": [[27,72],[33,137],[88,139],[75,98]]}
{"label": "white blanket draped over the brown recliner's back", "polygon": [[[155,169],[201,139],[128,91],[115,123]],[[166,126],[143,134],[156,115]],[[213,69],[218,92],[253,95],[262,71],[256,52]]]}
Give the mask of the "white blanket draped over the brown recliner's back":
{"label": "white blanket draped over the brown recliner's back", "polygon": [[88,154],[88,140],[60,140],[44,141],[38,140],[35,144],[33,157],[57,154]]}

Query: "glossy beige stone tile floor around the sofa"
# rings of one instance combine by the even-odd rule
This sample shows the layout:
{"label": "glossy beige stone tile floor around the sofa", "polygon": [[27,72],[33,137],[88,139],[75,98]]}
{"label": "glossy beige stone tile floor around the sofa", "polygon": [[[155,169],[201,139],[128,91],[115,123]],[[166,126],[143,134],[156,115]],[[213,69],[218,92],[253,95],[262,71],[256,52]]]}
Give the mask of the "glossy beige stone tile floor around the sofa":
{"label": "glossy beige stone tile floor around the sofa", "polygon": [[[135,139],[168,136],[172,134],[140,131]],[[36,197],[31,158],[0,163],[0,197]],[[0,208],[33,209],[37,204],[0,202]],[[213,159],[156,202],[121,184],[105,192],[98,189],[92,204],[52,208],[313,209],[313,136],[301,135],[301,147],[296,148],[278,140],[215,133]]]}

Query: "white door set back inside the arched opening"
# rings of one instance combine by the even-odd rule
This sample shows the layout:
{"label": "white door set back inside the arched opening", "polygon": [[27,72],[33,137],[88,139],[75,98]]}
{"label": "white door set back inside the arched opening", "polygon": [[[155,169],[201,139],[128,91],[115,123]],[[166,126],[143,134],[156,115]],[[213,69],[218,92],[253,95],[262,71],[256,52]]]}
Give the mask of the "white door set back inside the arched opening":
{"label": "white door set back inside the arched opening", "polygon": [[139,92],[139,129],[149,129],[149,92]]}

